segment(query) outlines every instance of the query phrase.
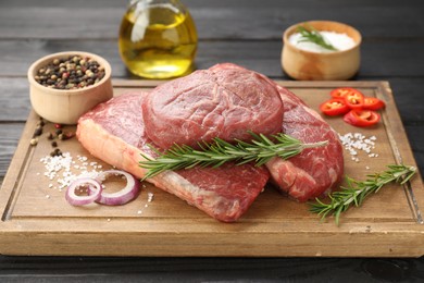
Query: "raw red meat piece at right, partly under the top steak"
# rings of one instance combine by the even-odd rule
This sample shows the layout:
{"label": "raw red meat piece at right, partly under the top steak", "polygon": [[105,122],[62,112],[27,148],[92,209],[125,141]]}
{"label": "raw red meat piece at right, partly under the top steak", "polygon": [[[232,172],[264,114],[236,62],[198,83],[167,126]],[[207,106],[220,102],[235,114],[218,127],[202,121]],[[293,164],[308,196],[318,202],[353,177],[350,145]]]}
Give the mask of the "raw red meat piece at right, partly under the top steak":
{"label": "raw red meat piece at right, partly under the top steak", "polygon": [[[211,69],[230,69],[235,72],[245,70],[232,63],[217,64]],[[327,146],[305,149],[289,160],[274,158],[267,162],[273,183],[299,201],[307,201],[331,190],[344,174],[342,147],[337,133],[299,97],[266,76],[258,75],[275,85],[282,97],[284,122],[280,132],[303,143],[328,140]]]}

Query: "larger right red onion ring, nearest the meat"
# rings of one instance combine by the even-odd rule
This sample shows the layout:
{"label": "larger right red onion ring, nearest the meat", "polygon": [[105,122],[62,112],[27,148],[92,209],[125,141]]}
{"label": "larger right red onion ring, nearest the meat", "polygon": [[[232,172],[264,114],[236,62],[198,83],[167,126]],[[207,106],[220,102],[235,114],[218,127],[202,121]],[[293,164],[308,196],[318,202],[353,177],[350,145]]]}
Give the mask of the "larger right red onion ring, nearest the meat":
{"label": "larger right red onion ring, nearest the meat", "polygon": [[[100,172],[96,180],[102,182],[111,174],[125,176],[126,186],[116,193],[105,193],[102,190],[100,197],[96,199],[96,202],[107,206],[121,206],[133,200],[140,190],[140,182],[138,182],[138,180],[132,174],[121,170],[108,170]],[[91,188],[89,188],[89,190],[91,190]]]}

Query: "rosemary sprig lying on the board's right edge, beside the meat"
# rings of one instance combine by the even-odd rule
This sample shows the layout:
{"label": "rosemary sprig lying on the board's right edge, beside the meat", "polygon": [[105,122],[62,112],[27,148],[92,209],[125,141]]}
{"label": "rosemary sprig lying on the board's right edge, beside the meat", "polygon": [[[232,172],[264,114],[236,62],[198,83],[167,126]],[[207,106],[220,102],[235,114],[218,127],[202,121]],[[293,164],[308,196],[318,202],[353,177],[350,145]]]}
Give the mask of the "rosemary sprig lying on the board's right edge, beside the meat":
{"label": "rosemary sprig lying on the board's right edge, beside the meat", "polygon": [[310,211],[321,216],[324,220],[327,216],[335,216],[336,224],[339,224],[341,212],[348,210],[351,205],[361,206],[364,199],[372,193],[377,193],[384,185],[396,182],[400,185],[407,183],[416,172],[416,168],[403,164],[388,165],[388,170],[382,173],[367,175],[365,181],[356,181],[347,177],[348,186],[341,186],[341,190],[328,195],[331,202],[324,204],[316,198],[316,202],[310,204]]}

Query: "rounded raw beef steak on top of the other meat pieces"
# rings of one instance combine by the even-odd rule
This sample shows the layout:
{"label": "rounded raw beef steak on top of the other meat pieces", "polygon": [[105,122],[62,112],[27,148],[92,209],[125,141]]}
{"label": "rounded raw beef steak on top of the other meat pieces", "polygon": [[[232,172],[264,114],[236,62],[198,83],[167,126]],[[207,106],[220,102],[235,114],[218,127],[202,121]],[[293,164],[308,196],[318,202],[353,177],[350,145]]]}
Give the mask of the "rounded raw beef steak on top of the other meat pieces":
{"label": "rounded raw beef steak on top of the other meat pieces", "polygon": [[157,146],[197,146],[213,137],[250,140],[248,131],[279,133],[283,102],[266,77],[216,65],[158,86],[145,100],[142,115]]}

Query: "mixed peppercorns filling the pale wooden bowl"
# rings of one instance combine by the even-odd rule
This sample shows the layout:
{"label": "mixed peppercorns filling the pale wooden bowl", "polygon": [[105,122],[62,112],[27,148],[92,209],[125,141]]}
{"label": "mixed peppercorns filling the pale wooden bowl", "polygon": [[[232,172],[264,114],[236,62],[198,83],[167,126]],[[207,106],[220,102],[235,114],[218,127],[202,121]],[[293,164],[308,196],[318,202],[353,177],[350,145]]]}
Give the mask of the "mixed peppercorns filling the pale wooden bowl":
{"label": "mixed peppercorns filling the pale wooden bowl", "polygon": [[96,60],[70,56],[57,58],[38,70],[34,76],[37,83],[55,89],[77,89],[90,86],[104,77],[104,67]]}

